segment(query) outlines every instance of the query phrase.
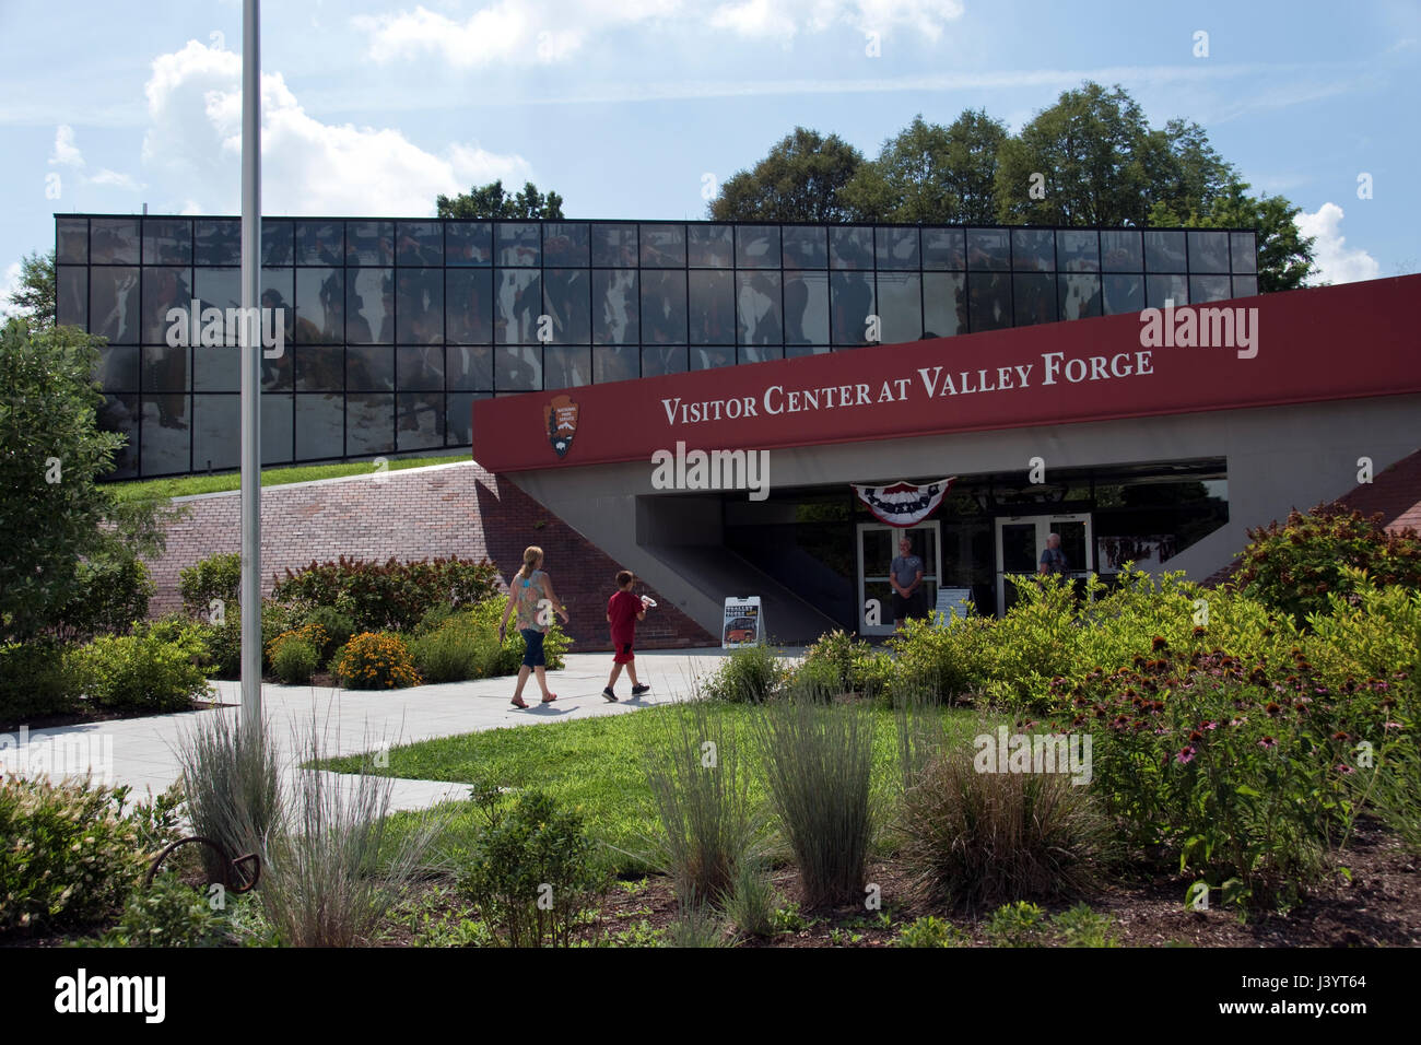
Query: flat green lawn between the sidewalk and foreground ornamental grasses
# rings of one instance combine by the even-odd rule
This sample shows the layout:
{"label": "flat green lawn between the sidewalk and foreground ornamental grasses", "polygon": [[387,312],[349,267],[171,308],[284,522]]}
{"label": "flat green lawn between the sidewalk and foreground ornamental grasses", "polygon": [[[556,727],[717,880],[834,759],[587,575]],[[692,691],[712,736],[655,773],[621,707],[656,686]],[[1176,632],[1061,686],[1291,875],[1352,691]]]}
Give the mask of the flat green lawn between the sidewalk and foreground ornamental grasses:
{"label": "flat green lawn between the sidewalk and foreground ornamental grasses", "polygon": [[[749,754],[753,749],[749,718],[760,714],[759,708],[743,704],[712,707],[716,715],[729,719],[732,735],[746,744]],[[394,748],[389,768],[372,772],[423,781],[473,782],[482,778],[503,788],[540,788],[560,805],[581,809],[588,830],[610,847],[610,859],[618,872],[644,873],[647,866],[635,854],[647,852],[645,839],[655,822],[644,756],[665,735],[658,717],[668,711],[648,708],[625,715],[445,736]],[[898,779],[898,731],[891,711],[878,709],[872,715],[874,783],[887,796]],[[972,711],[944,711],[942,715],[956,735],[966,736],[976,731],[978,718]],[[323,766],[337,772],[371,769],[368,755],[327,759]],[[763,799],[753,766],[752,779],[753,792]],[[452,812],[453,820],[445,832],[441,856],[458,859],[477,827],[477,813],[472,806],[445,812]],[[395,820],[408,818],[401,813]]]}

